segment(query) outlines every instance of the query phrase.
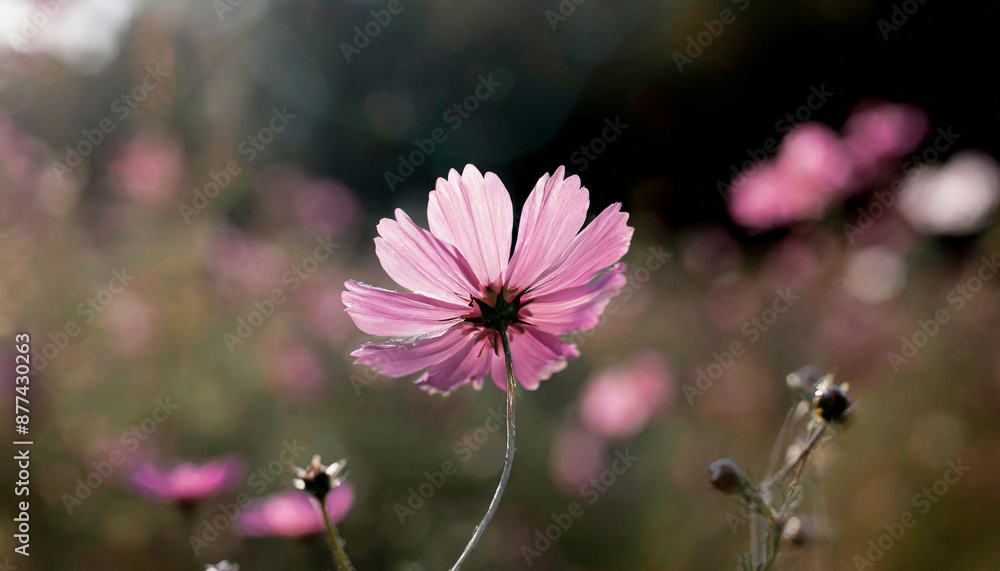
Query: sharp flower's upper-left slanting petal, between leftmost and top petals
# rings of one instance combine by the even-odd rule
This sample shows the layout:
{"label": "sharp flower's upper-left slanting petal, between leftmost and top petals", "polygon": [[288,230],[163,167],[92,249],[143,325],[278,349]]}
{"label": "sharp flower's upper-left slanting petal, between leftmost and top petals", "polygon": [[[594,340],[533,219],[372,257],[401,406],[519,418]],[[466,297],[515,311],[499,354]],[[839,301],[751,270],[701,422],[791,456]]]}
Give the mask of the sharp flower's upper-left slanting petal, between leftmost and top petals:
{"label": "sharp flower's upper-left slanting petal, between leftmost and top petals", "polygon": [[468,262],[453,246],[420,228],[400,209],[396,220],[383,218],[375,253],[385,273],[399,285],[442,301],[467,304],[479,294]]}

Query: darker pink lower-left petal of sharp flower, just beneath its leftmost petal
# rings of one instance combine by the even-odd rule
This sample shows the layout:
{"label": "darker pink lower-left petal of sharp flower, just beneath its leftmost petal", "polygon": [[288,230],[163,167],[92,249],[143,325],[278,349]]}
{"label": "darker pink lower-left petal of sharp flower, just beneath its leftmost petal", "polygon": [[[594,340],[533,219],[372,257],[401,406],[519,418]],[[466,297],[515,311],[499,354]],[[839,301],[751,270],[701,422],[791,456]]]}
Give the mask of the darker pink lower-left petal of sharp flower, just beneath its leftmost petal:
{"label": "darker pink lower-left petal of sharp flower, just beneath its leftmost petal", "polygon": [[356,365],[367,365],[389,377],[402,377],[433,367],[456,353],[471,351],[476,329],[474,325],[462,323],[437,337],[365,343],[351,355],[357,357]]}

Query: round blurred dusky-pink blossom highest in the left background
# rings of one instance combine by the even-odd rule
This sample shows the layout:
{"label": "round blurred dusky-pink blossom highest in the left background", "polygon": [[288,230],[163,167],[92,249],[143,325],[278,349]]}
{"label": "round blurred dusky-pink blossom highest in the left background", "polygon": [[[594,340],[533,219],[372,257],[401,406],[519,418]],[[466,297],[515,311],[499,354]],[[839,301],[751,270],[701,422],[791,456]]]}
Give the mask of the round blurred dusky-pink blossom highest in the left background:
{"label": "round blurred dusky-pink blossom highest in the left background", "polygon": [[184,158],[169,137],[145,131],[118,152],[110,170],[125,194],[136,202],[173,206]]}

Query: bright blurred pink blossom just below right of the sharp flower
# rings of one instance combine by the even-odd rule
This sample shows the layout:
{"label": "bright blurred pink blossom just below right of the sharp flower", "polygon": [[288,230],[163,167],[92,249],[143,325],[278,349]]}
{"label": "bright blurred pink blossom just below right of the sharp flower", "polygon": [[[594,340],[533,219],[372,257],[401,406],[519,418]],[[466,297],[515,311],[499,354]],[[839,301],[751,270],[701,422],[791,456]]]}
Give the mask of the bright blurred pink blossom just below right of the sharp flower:
{"label": "bright blurred pink blossom just below right of the sharp flower", "polygon": [[663,357],[640,353],[624,366],[599,372],[583,388],[583,425],[603,438],[631,438],[671,404],[673,384]]}

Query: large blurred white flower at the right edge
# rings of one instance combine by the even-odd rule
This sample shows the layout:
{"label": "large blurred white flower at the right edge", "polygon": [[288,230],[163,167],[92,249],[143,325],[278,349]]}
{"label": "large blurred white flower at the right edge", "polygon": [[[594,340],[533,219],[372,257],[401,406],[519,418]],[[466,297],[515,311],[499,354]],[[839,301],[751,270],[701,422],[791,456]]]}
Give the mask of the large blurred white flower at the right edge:
{"label": "large blurred white flower at the right edge", "polygon": [[910,175],[900,196],[900,209],[925,234],[960,235],[989,223],[1000,201],[1000,166],[978,151],[955,154],[943,167],[926,167]]}

